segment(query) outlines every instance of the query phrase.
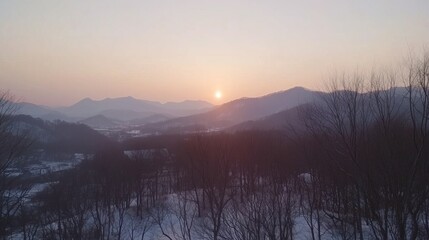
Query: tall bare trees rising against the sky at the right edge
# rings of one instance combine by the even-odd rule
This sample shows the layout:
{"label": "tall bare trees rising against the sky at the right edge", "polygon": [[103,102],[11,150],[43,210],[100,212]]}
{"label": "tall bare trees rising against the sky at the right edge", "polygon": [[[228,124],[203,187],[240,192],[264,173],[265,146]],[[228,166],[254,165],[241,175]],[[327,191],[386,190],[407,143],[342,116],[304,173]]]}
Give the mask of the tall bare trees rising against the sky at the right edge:
{"label": "tall bare trees rising against the sky at the right edge", "polygon": [[406,88],[397,87],[400,72],[334,77],[322,103],[305,114],[329,166],[312,168],[324,180],[324,215],[342,238],[363,239],[369,234],[363,222],[376,239],[422,236],[429,170],[428,56],[413,58]]}

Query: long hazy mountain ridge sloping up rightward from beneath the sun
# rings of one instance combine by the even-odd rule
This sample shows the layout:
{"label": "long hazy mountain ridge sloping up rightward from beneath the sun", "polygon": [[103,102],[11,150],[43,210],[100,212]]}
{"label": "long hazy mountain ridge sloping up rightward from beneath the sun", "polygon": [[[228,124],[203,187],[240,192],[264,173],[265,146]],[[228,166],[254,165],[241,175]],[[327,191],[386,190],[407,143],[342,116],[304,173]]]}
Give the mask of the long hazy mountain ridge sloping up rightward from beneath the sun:
{"label": "long hazy mountain ridge sloping up rightward from beneath the sun", "polygon": [[195,128],[195,130],[226,128],[311,102],[318,95],[318,92],[296,87],[258,98],[234,100],[207,113],[149,124],[144,126],[143,130],[148,132],[170,132],[172,129],[174,131],[181,131],[182,129],[189,131],[190,128]]}

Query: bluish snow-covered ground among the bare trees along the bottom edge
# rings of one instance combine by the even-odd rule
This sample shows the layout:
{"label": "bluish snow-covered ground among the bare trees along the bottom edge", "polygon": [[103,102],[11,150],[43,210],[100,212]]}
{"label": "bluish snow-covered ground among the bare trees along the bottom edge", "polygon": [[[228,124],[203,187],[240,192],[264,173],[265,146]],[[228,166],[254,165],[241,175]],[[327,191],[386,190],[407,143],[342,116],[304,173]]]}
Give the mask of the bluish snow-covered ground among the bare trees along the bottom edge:
{"label": "bluish snow-covered ground among the bare trees along the bottom edge", "polygon": [[[44,188],[49,186],[46,184],[37,184],[31,190],[31,194],[37,193]],[[210,229],[213,227],[210,222],[210,213],[203,211],[201,216],[198,216],[197,206],[195,202],[190,200],[192,196],[190,193],[175,193],[165,196],[164,200],[160,201],[160,204],[146,211],[142,216],[136,214],[135,201],[131,202],[131,205],[124,211],[116,209],[112,206],[112,214],[102,214],[101,218],[104,218],[107,222],[107,218],[111,218],[112,222],[106,234],[106,239],[140,239],[140,240],[191,240],[191,239],[213,239],[212,232]],[[190,197],[190,198],[188,198]],[[190,200],[190,201],[189,201]],[[298,208],[294,210],[292,216],[292,239],[307,240],[312,239],[311,228],[309,225],[308,216],[304,216],[302,210]],[[251,209],[248,209],[252,211]],[[252,239],[251,235],[248,238],[240,238],[240,234],[246,233],[251,229],[233,229],[239,224],[250,223],[245,219],[245,215],[231,215],[232,212],[237,212],[234,206],[229,205],[223,210],[221,227],[220,227],[220,239]],[[91,229],[93,225],[96,225],[95,219],[92,213],[88,212],[85,214],[86,227],[85,229]],[[270,218],[271,216],[266,216]],[[109,220],[110,221],[110,220]],[[313,219],[316,222],[316,219]],[[238,223],[240,222],[240,223]],[[275,223],[275,222],[273,222]],[[250,223],[258,224],[258,223]],[[260,225],[262,228],[263,224]],[[45,226],[46,227],[46,226]],[[55,229],[58,226],[55,222],[51,223],[49,228]],[[280,226],[278,226],[280,227]],[[364,228],[366,228],[364,226]],[[367,229],[369,232],[369,229]],[[237,231],[234,234],[232,232]],[[268,236],[264,235],[264,230],[261,230],[259,239],[269,239]],[[265,236],[265,237],[264,237]],[[341,239],[339,235],[335,233],[333,229],[329,228],[329,224],[323,223],[321,225],[321,236],[322,239]],[[18,240],[24,239],[22,233],[16,233],[10,236],[8,239]],[[39,239],[39,238],[37,238]],[[317,237],[316,237],[317,239]],[[372,239],[369,234],[366,235],[365,239]]]}

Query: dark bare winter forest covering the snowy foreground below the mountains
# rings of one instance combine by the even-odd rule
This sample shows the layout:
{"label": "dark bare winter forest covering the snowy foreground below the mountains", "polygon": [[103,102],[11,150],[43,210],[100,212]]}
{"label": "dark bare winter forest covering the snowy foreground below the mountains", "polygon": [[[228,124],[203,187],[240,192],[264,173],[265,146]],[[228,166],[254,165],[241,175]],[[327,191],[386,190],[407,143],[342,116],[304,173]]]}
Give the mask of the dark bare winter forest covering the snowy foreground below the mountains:
{"label": "dark bare winter forest covering the snowy foreground below the mountains", "polygon": [[40,217],[44,239],[141,239],[150,229],[166,239],[294,239],[298,217],[312,239],[424,239],[428,169],[419,166],[409,202],[403,186],[417,156],[412,128],[395,125],[388,152],[378,126],[360,141],[359,165],[321,132],[189,136],[174,160],[107,151],[40,194],[39,212],[27,215]]}

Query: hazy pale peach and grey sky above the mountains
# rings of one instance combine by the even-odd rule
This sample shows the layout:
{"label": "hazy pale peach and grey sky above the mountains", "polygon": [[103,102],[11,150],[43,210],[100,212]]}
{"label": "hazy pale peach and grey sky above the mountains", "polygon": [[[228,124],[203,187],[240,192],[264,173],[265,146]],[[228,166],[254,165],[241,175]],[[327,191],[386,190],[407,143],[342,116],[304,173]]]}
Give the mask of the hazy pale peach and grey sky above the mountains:
{"label": "hazy pale peach and grey sky above the mountains", "polygon": [[0,88],[46,105],[319,89],[424,47],[428,0],[0,1]]}

